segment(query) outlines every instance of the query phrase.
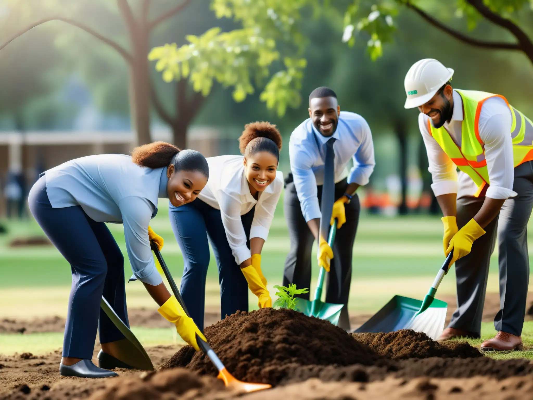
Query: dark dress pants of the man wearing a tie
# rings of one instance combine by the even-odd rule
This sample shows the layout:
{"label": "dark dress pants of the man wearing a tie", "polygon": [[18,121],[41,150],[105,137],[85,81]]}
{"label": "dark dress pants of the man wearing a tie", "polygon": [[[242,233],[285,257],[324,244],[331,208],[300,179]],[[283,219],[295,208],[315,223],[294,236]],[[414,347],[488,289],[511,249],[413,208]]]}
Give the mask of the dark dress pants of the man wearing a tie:
{"label": "dark dress pants of the man wearing a tie", "polygon": [[[348,187],[343,179],[335,184],[335,200],[340,198]],[[319,203],[322,186],[317,186]],[[350,204],[345,204],[346,223],[337,230],[333,244],[333,259],[326,280],[326,302],[344,304],[338,326],[350,330],[348,298],[352,279],[352,251],[359,222],[359,198],[354,195]],[[305,222],[296,194],[294,182],[287,183],[284,199],[285,219],[289,229],[290,250],[285,261],[283,285],[294,283],[298,289],[311,287],[311,251],[314,237]],[[316,264],[315,264],[316,265]],[[318,271],[318,270],[317,270]],[[309,300],[310,293],[299,297]]]}

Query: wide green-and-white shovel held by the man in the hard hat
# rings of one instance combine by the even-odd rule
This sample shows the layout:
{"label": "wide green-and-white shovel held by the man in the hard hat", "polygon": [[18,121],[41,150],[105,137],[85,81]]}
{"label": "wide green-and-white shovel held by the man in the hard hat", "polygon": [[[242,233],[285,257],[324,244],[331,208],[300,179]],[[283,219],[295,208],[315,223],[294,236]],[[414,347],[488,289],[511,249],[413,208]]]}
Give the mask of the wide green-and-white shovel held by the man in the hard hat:
{"label": "wide green-and-white shovel held by the man in the hard hat", "polygon": [[435,293],[442,278],[448,273],[452,255],[453,252],[450,252],[446,257],[424,301],[395,295],[372,318],[353,332],[394,332],[400,329],[412,329],[424,332],[436,340],[444,329],[448,304],[435,299]]}

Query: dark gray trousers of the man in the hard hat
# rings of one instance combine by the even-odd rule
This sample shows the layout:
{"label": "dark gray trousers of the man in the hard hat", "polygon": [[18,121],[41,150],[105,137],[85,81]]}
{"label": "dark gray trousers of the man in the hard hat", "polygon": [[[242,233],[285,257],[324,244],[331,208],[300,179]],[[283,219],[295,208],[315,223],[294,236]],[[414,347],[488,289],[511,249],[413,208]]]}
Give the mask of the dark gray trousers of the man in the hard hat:
{"label": "dark gray trousers of the man in the hard hat", "polygon": [[[459,178],[457,226],[461,229],[481,209],[484,197],[461,195],[473,182],[464,174]],[[472,251],[455,263],[457,309],[449,327],[480,337],[483,303],[487,289],[490,255],[498,235],[500,310],[494,318],[497,331],[521,335],[526,315],[529,284],[527,226],[533,207],[533,165],[523,163],[514,169],[513,190],[496,217],[485,228],[486,234],[472,245]],[[471,193],[471,192],[470,192]]]}

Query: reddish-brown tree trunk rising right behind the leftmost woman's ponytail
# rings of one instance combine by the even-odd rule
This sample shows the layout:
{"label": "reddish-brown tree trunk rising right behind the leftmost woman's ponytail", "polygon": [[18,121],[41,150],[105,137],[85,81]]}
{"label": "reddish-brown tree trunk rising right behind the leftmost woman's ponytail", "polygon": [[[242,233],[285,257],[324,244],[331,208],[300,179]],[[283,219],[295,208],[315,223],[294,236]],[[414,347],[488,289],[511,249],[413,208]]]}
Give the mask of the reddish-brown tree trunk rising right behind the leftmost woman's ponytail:
{"label": "reddish-brown tree trunk rising right behind the leftmost woman's ponytail", "polygon": [[131,65],[130,106],[136,145],[151,142],[150,137],[150,75],[148,63],[148,34],[135,35]]}

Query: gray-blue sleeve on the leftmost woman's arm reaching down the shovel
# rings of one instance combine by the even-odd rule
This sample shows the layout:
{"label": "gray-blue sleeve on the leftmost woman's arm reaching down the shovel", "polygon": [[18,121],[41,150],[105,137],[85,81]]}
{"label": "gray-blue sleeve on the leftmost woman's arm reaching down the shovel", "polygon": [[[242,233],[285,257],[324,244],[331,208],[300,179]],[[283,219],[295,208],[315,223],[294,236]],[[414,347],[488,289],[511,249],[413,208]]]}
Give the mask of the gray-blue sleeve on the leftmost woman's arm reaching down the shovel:
{"label": "gray-blue sleeve on the leftmost woman's arm reaching down the shovel", "polygon": [[133,275],[143,283],[159,285],[163,278],[154,263],[148,237],[148,225],[154,205],[146,198],[130,196],[123,198],[118,207],[122,213],[126,250]]}

